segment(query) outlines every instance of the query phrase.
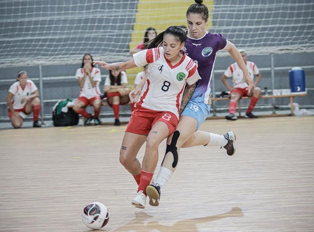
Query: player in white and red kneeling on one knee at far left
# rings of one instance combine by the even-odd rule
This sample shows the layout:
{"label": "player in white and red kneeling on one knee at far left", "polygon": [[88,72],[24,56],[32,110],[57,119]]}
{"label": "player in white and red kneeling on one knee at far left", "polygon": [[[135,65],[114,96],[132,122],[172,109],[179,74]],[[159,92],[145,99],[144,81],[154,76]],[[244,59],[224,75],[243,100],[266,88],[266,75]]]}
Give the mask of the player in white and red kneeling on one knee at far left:
{"label": "player in white and red kneeling on one knee at far left", "polygon": [[33,127],[41,127],[38,116],[41,105],[38,88],[28,79],[26,71],[19,71],[17,81],[14,82],[7,95],[8,114],[14,128],[20,128],[25,114],[33,112]]}

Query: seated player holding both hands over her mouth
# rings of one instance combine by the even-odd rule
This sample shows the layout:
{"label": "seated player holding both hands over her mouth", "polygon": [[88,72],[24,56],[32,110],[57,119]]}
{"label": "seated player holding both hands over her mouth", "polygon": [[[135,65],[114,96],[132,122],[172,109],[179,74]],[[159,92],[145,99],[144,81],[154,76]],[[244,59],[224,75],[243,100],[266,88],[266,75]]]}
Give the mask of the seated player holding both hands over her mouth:
{"label": "seated player holding both hands over her mouth", "polygon": [[[82,66],[76,70],[75,76],[81,88],[77,101],[73,105],[73,110],[85,117],[84,125],[90,125],[94,119],[95,125],[100,124],[98,118],[101,107],[99,83],[101,82],[100,69],[93,65],[93,57],[89,54],[83,56]],[[87,106],[94,107],[94,116],[87,113]]]}

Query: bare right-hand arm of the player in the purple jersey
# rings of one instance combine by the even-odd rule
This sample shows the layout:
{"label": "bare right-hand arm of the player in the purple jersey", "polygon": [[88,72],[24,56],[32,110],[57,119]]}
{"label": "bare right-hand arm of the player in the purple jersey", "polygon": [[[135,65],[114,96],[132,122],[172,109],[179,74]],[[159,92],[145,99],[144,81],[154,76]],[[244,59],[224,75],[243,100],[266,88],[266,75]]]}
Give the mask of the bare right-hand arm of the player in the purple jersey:
{"label": "bare right-hand arm of the player in the purple jersey", "polygon": [[233,43],[231,43],[230,41],[228,41],[228,45],[224,50],[227,50],[229,52],[230,56],[237,62],[237,64],[241,68],[241,70],[243,72],[243,80],[246,82],[246,84],[249,85],[248,91],[251,92],[251,89],[252,89],[254,83],[253,83],[253,80],[249,74],[249,71],[247,71],[246,65],[242,59],[240,52],[238,51],[236,46]]}

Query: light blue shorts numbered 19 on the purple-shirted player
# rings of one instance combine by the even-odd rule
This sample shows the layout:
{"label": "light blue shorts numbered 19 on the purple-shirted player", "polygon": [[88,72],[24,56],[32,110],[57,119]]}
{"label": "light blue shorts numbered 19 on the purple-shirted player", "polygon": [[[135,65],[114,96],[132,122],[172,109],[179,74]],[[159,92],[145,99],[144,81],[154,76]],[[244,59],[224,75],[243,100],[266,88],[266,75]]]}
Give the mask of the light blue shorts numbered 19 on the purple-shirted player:
{"label": "light blue shorts numbered 19 on the purple-shirted player", "polygon": [[184,108],[183,112],[181,113],[181,116],[189,116],[193,119],[197,120],[197,128],[195,131],[198,130],[198,128],[201,126],[201,124],[205,121],[205,119],[209,115],[210,105],[207,105],[205,103],[201,102],[193,102],[189,101],[187,103],[187,106]]}

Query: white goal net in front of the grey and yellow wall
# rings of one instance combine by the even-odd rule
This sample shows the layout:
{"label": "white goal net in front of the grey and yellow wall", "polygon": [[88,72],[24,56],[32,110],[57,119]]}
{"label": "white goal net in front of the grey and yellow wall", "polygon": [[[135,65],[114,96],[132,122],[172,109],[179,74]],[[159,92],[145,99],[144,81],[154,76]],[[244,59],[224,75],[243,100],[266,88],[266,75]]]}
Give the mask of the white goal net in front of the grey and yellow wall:
{"label": "white goal net in front of the grey and yellow wall", "polygon": [[[2,0],[0,67],[127,60],[145,29],[187,25],[192,0]],[[314,51],[313,0],[204,0],[208,30],[258,54]],[[222,52],[220,55],[224,55]]]}

